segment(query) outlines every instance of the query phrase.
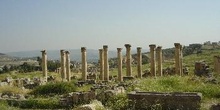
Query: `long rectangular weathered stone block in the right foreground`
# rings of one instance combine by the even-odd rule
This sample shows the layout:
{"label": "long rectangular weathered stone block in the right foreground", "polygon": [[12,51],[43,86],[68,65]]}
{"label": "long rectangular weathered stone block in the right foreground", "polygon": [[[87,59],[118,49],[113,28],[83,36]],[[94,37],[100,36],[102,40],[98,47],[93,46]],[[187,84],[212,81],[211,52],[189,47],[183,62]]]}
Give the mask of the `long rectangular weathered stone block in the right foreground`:
{"label": "long rectangular weathered stone block in the right foreground", "polygon": [[128,93],[129,106],[135,110],[151,109],[155,105],[162,110],[199,110],[201,98],[201,93]]}

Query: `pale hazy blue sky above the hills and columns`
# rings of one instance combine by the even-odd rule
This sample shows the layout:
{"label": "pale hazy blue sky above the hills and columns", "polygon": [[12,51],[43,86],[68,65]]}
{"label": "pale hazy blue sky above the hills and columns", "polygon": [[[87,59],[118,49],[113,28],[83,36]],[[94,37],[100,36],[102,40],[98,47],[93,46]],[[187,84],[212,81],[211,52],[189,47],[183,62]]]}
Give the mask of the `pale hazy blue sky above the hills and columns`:
{"label": "pale hazy blue sky above the hills and columns", "polygon": [[0,52],[220,41],[220,0],[0,0]]}

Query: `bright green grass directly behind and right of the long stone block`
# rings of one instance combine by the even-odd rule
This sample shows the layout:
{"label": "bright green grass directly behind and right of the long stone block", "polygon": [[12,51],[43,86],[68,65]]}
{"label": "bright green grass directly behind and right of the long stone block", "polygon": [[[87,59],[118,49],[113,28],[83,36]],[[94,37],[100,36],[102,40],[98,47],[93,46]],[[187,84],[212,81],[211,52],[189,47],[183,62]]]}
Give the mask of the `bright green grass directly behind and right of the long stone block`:
{"label": "bright green grass directly behind and right of the long stone block", "polygon": [[134,85],[149,92],[200,92],[205,98],[220,98],[219,84],[205,83],[200,77],[164,76],[139,80]]}

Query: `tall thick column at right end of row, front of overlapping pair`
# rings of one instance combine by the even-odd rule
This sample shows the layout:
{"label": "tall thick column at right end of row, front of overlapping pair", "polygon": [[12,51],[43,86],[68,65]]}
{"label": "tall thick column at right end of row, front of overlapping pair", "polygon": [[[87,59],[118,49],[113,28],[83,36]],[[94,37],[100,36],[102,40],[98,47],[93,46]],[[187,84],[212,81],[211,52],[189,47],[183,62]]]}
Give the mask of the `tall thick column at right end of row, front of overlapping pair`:
{"label": "tall thick column at right end of row, front of overlapping pair", "polygon": [[181,75],[180,72],[180,43],[174,43],[175,46],[175,73]]}

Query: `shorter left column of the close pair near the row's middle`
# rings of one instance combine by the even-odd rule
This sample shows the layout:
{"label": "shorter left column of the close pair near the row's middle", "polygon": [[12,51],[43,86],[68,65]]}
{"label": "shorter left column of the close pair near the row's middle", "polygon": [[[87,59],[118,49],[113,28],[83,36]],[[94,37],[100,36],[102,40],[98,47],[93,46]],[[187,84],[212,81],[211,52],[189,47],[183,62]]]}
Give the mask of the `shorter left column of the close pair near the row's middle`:
{"label": "shorter left column of the close pair near the row's middle", "polygon": [[104,80],[104,58],[103,49],[99,49],[99,65],[100,65],[100,80]]}

